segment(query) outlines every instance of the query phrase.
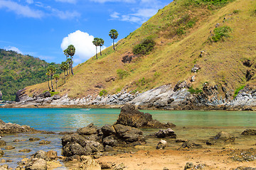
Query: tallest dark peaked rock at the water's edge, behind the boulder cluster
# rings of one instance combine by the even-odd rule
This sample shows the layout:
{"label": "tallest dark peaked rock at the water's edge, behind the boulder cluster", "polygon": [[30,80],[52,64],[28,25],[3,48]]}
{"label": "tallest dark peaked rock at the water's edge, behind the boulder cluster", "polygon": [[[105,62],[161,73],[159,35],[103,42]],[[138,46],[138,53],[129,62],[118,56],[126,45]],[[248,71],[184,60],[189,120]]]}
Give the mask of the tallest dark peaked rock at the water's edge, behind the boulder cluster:
{"label": "tallest dark peaked rock at the water's edge, behind the boulder cluster", "polygon": [[121,109],[117,123],[128,125],[134,128],[173,128],[172,123],[160,123],[158,120],[153,120],[152,115],[135,110],[134,105],[125,105]]}

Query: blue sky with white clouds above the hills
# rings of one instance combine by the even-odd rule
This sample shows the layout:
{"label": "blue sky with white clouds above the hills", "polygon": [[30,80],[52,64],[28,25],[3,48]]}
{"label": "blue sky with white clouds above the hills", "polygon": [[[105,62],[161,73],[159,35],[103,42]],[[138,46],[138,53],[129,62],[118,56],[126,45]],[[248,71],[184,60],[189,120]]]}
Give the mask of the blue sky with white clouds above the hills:
{"label": "blue sky with white clouds above the hills", "polygon": [[112,45],[139,28],[171,0],[0,0],[0,48],[39,57],[46,62],[65,61],[65,50],[76,48],[74,65],[95,55],[93,38]]}

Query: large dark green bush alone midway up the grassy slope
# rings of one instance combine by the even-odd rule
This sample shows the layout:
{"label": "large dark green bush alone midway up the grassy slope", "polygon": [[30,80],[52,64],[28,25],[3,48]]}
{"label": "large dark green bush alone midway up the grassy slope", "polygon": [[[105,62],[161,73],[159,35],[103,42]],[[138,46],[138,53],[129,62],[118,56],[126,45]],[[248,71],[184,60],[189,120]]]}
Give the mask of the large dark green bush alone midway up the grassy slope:
{"label": "large dark green bush alone midway up the grassy slope", "polygon": [[151,37],[147,37],[138,45],[135,45],[132,52],[134,55],[147,55],[153,50],[154,45],[156,45],[156,42]]}

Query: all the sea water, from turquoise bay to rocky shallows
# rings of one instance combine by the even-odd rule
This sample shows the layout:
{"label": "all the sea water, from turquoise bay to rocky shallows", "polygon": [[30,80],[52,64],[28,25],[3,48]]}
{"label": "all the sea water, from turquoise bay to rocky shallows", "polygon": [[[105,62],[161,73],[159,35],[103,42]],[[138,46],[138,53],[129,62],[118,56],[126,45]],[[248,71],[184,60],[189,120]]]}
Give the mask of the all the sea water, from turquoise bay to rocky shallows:
{"label": "all the sea water, from turquoise bay to rocky shallows", "polygon": [[[161,122],[171,122],[176,125],[174,128],[177,138],[192,140],[193,142],[205,145],[205,140],[215,136],[220,130],[230,132],[237,137],[235,147],[250,148],[256,143],[255,137],[244,137],[241,134],[246,128],[256,127],[256,112],[249,111],[143,111],[153,115],[153,118]],[[0,108],[0,119],[8,123],[29,125],[36,130],[47,130],[53,132],[71,132],[84,127],[90,123],[97,126],[105,124],[112,125],[120,113],[120,109],[102,108]],[[156,130],[143,130],[149,135]],[[29,142],[30,137],[39,137],[41,140],[51,141],[50,145],[39,145],[39,141]],[[61,154],[61,135],[43,134],[18,134],[5,135],[3,140],[7,145],[15,149],[6,150],[2,159],[11,159],[7,163],[16,167],[16,162],[23,157],[30,157],[31,154],[43,149],[45,151],[55,150]],[[26,140],[24,142],[13,142],[15,139]],[[156,140],[149,140],[147,146],[154,145]],[[170,142],[171,147],[178,147]],[[29,153],[18,152],[19,149],[31,149]],[[1,160],[1,158],[0,158]],[[4,163],[6,164],[6,163]]]}

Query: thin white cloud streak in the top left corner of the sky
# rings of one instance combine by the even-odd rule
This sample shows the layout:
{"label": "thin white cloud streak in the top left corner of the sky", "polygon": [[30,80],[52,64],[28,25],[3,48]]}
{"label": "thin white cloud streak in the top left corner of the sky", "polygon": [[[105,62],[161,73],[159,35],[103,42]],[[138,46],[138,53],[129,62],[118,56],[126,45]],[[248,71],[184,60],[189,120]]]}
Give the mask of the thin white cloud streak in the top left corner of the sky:
{"label": "thin white cloud streak in the top left corner of the sky", "polygon": [[42,11],[35,11],[28,6],[22,6],[14,1],[0,1],[0,8],[8,8],[9,11],[14,11],[16,14],[29,18],[42,18],[44,13]]}

